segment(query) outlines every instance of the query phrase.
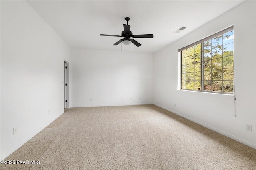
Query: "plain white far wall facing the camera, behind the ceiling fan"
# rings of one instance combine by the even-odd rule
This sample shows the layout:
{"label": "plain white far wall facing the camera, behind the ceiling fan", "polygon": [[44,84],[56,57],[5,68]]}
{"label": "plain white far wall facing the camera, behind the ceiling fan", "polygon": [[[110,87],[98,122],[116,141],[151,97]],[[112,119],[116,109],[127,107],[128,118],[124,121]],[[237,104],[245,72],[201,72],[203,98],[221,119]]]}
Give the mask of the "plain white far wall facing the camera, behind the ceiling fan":
{"label": "plain white far wall facing the camera, behind the ceiling fan", "polygon": [[152,54],[89,49],[71,54],[70,107],[152,104]]}

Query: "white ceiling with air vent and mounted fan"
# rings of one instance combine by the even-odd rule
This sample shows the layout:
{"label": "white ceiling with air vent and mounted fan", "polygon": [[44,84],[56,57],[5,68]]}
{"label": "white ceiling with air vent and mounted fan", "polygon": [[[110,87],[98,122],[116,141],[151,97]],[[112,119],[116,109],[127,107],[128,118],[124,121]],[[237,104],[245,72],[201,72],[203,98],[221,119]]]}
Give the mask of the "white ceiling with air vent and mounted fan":
{"label": "white ceiling with air vent and mounted fan", "polygon": [[[82,1],[28,0],[40,16],[70,47],[118,50],[113,46],[122,37],[125,17],[134,35],[154,34],[154,38],[137,38],[142,44],[133,51],[154,53],[194,29],[234,8],[244,0],[172,0],[172,1]],[[188,28],[180,33],[181,26]]]}

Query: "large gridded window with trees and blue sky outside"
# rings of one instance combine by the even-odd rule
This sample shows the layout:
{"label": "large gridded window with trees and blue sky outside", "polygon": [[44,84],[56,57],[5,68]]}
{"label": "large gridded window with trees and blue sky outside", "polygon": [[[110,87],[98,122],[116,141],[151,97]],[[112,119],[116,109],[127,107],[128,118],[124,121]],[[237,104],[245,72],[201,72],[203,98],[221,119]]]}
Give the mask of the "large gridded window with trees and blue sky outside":
{"label": "large gridded window with trees and blue sky outside", "polygon": [[179,50],[181,89],[233,93],[233,33],[230,27]]}

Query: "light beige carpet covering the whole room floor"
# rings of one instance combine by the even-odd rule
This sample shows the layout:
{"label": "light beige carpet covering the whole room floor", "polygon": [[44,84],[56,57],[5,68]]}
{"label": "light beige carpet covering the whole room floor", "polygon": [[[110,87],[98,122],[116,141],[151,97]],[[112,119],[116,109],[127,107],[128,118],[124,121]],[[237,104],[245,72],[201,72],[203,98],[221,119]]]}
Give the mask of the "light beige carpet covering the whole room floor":
{"label": "light beige carpet covering the whole room floor", "polygon": [[5,160],[2,169],[256,170],[256,149],[154,105],[65,113]]}

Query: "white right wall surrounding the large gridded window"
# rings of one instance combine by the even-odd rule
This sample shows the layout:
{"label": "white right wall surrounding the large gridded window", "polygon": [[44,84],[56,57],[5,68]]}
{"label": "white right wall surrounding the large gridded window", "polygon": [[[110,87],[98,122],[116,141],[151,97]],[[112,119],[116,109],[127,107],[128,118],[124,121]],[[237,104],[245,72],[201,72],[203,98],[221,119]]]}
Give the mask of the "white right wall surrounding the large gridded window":
{"label": "white right wall surrounding the large gridded window", "polygon": [[[237,117],[233,96],[177,90],[178,49],[231,25]],[[246,1],[154,54],[154,103],[256,148],[255,47],[256,2]]]}

